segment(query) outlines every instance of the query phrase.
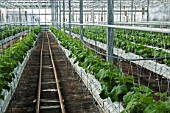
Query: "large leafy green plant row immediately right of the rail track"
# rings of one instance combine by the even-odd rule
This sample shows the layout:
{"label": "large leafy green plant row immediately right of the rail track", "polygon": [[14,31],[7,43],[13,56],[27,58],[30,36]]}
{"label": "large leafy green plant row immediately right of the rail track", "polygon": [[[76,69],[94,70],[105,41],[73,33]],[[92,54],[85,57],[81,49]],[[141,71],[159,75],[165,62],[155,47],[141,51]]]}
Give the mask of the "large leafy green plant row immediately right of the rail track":
{"label": "large leafy green plant row immediately right of the rail track", "polygon": [[[101,83],[102,91],[100,97],[110,97],[112,102],[121,101],[125,107],[122,113],[166,113],[170,111],[170,98],[166,93],[154,93],[146,86],[133,82],[133,76],[124,76],[120,69],[112,63],[102,60],[93,51],[87,49],[78,39],[64,34],[63,32],[50,27],[51,31],[60,40],[61,45],[70,50],[70,58],[85,69],[87,73],[95,75]],[[110,67],[114,69],[110,71]],[[154,96],[160,100],[155,101]]]}

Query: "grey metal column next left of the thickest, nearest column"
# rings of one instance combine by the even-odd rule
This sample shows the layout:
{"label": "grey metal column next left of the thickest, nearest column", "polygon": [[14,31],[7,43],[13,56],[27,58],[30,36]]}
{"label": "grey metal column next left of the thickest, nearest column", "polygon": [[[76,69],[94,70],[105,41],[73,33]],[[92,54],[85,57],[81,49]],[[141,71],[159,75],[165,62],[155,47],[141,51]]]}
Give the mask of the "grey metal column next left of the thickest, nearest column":
{"label": "grey metal column next left of the thickest, nearest column", "polygon": [[[83,0],[80,0],[80,24],[83,24]],[[83,40],[83,25],[80,25],[80,40]]]}

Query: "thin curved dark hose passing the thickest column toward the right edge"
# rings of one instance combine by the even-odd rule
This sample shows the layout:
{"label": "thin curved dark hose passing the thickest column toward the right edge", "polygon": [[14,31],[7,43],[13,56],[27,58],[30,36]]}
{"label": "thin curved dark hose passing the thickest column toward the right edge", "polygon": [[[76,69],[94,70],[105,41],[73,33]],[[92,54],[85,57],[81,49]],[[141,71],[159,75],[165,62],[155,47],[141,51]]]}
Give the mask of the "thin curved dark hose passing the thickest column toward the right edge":
{"label": "thin curved dark hose passing the thickest column toward the right edge", "polygon": [[125,58],[122,58],[122,57],[118,57],[116,55],[107,55],[107,54],[104,54],[104,53],[101,53],[99,51],[97,51],[96,49],[93,49],[91,47],[89,47],[83,40],[80,40],[82,42],[83,45],[85,45],[88,49],[96,52],[97,54],[99,55],[102,55],[102,56],[110,56],[112,58],[116,58],[116,59],[119,59],[119,60],[122,60],[122,61],[140,61],[140,60],[162,60],[162,59],[170,59],[170,56],[166,56],[166,57],[157,57],[157,58],[139,58],[139,59],[125,59]]}

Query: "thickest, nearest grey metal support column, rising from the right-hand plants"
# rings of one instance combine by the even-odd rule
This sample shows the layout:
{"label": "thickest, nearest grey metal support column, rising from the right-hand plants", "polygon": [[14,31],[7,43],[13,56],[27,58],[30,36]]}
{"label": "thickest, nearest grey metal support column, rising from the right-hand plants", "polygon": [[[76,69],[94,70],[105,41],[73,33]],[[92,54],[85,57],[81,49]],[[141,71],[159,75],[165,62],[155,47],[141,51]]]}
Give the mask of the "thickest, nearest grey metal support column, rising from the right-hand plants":
{"label": "thickest, nearest grey metal support column, rising from the right-hand plants", "polygon": [[[114,18],[113,18],[113,0],[107,0],[107,24],[113,25]],[[107,61],[113,62],[113,28],[107,28]]]}

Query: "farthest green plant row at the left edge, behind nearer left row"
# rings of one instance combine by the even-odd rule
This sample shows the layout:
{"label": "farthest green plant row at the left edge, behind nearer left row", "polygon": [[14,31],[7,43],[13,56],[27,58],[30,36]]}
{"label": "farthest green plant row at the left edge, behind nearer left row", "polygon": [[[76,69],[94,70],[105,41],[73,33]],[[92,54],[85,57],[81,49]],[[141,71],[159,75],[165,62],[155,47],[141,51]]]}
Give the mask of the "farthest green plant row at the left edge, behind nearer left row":
{"label": "farthest green plant row at the left edge, behind nearer left row", "polygon": [[20,33],[22,31],[28,30],[28,26],[10,26],[10,27],[4,27],[0,29],[0,40],[5,39],[9,36],[15,35],[17,33]]}

